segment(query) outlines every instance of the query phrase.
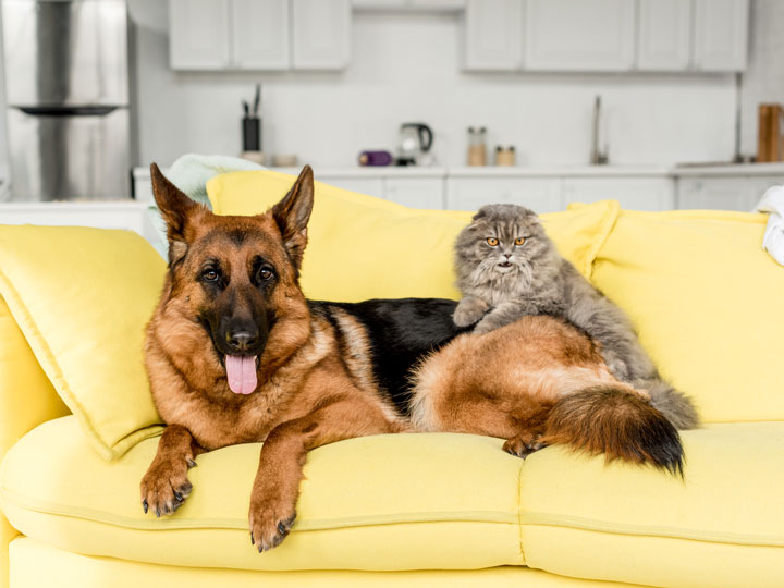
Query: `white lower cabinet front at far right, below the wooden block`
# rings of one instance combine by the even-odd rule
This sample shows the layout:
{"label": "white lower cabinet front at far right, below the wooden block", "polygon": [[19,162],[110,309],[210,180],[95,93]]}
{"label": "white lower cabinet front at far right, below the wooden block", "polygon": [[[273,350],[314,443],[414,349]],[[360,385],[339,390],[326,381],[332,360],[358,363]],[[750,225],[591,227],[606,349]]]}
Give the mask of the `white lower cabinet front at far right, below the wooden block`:
{"label": "white lower cabinet front at far right, below the wooden block", "polygon": [[681,177],[677,207],[748,212],[757,206],[765,189],[781,183],[781,176]]}

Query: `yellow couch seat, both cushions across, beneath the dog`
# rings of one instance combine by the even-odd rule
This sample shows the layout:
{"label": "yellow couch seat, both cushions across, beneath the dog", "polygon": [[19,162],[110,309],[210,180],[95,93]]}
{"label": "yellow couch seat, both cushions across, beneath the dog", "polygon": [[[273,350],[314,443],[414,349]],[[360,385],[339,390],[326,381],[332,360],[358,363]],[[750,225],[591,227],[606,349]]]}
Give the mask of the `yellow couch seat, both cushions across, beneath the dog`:
{"label": "yellow couch seat, both cushions across, beneath the dog", "polygon": [[74,417],[16,443],[0,500],[28,537],[88,555],[238,569],[524,565],[650,586],[784,585],[784,422],[684,433],[686,479],[561,448],[526,462],[497,439],[400,434],[311,452],[298,519],[258,554],[247,504],[258,444],[200,455],[175,516],[139,506],[148,439],[106,462]]}

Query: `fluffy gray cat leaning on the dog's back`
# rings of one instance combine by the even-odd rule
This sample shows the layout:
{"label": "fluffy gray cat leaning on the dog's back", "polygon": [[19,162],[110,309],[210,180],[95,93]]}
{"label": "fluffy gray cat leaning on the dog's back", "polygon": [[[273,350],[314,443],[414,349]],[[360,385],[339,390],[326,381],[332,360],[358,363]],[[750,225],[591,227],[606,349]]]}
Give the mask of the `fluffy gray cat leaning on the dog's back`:
{"label": "fluffy gray cat leaning on the dog's back", "polygon": [[601,345],[620,380],[647,390],[651,404],[679,429],[698,426],[691,401],[661,376],[623,310],[555,249],[531,210],[516,205],[479,209],[455,244],[458,327],[487,333],[525,315],[563,317]]}

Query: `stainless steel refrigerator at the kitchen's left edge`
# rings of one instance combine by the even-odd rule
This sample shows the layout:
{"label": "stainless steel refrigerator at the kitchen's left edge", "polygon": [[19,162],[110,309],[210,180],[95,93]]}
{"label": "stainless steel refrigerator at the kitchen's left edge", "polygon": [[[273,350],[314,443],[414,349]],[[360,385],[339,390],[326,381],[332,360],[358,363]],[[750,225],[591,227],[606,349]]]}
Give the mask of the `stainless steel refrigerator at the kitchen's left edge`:
{"label": "stainless steel refrigerator at the kitchen's left edge", "polygon": [[2,0],[11,197],[130,197],[125,0]]}

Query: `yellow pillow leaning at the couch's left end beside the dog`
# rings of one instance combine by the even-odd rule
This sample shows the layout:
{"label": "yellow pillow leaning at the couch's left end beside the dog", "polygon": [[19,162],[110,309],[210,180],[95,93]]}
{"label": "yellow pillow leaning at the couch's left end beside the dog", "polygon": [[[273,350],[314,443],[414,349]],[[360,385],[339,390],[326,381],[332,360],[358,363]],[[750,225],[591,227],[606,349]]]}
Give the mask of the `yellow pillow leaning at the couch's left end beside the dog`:
{"label": "yellow pillow leaning at the couch's left end beside the dog", "polygon": [[0,295],[106,458],[160,430],[142,343],[163,271],[155,249],[127,231],[0,226]]}

